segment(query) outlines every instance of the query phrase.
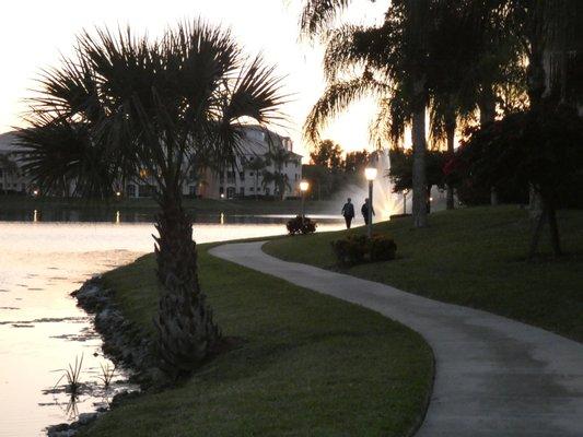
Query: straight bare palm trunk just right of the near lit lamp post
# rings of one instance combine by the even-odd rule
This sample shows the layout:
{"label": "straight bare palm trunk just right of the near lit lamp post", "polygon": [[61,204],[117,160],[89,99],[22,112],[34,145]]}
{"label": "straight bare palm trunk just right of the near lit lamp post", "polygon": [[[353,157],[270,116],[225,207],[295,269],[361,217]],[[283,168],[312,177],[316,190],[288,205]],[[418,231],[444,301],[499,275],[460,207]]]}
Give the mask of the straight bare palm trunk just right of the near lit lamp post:
{"label": "straight bare palm trunk just right of the near lit lamp post", "polygon": [[[416,88],[422,90],[422,83],[416,84]],[[412,215],[413,226],[424,227],[427,221],[427,174],[425,174],[425,106],[417,105],[412,120],[413,143],[413,168],[412,168]]]}

